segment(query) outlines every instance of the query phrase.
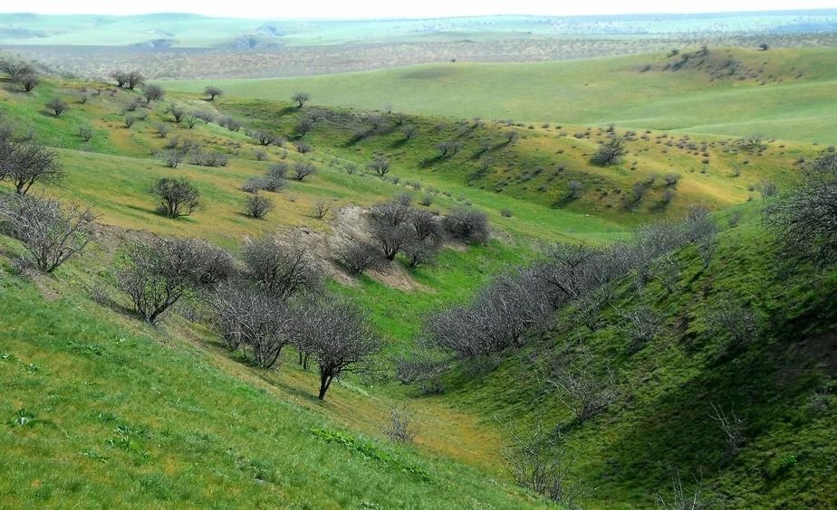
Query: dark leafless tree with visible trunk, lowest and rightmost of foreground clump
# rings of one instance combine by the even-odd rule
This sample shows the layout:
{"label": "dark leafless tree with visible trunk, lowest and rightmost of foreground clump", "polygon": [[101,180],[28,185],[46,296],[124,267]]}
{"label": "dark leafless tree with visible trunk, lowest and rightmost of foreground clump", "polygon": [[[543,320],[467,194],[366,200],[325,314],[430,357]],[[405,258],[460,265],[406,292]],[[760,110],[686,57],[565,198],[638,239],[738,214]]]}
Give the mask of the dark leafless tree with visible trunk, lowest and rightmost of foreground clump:
{"label": "dark leafless tree with visible trunk, lowest and rightmost of foreground clump", "polygon": [[304,313],[299,328],[306,346],[320,371],[322,401],[334,379],[343,373],[361,373],[370,368],[372,354],[380,342],[366,324],[361,309],[345,299],[334,299],[317,306],[314,313]]}

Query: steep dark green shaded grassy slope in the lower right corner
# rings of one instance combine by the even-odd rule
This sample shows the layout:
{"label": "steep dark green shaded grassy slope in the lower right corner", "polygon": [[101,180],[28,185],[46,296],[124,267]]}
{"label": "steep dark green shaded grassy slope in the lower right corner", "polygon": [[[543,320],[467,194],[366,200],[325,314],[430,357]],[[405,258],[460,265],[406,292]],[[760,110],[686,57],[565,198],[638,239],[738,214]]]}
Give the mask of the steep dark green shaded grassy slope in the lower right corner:
{"label": "steep dark green shaded grassy slope in the lower right corner", "polygon": [[[615,307],[647,305],[664,320],[639,352],[630,354],[626,327],[612,310],[596,332],[574,330],[565,313],[553,335],[495,372],[449,380],[451,398],[518,425],[539,418],[563,427],[572,477],[593,506],[646,507],[658,491],[670,502],[677,468],[687,486],[701,479],[716,504],[833,507],[837,397],[827,388],[837,381],[837,271],[786,267],[757,209],[744,208],[744,222],[721,233],[708,269],[700,269],[694,248],[678,253],[678,292],[659,282],[641,293],[630,282],[621,288]],[[736,306],[754,307],[762,324],[761,336],[743,348],[707,331],[709,314]],[[582,424],[537,382],[528,358],[566,359],[580,345],[590,348],[593,371],[613,371],[622,394]],[[814,392],[824,395],[819,404]],[[712,403],[745,420],[746,443],[734,458],[723,453]]]}

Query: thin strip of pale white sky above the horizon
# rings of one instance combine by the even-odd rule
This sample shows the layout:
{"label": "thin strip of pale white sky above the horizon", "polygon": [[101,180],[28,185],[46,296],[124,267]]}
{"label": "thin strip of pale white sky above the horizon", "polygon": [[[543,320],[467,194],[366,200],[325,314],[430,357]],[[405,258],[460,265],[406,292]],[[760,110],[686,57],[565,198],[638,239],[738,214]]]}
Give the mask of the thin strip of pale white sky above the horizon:
{"label": "thin strip of pale white sky above the horizon", "polygon": [[255,18],[442,17],[477,14],[628,14],[835,8],[835,0],[33,0],[3,2],[0,12],[42,14],[197,13]]}

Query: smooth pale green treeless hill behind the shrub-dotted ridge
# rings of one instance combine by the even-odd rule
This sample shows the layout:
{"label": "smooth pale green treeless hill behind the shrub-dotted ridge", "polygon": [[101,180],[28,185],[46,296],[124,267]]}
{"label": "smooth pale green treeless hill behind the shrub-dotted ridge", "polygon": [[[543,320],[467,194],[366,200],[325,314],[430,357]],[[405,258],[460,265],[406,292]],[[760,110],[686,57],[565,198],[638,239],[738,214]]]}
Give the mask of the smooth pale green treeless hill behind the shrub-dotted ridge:
{"label": "smooth pale green treeless hill behind the shrub-dotted ridge", "polygon": [[[642,55],[538,63],[430,64],[277,80],[212,80],[231,97],[289,98],[311,92],[322,104],[455,118],[515,118],[690,133],[769,137],[832,143],[837,107],[837,52],[832,49],[712,51],[759,69],[755,80],[715,80],[702,71],[640,72],[665,61]],[[801,78],[796,75],[802,72]],[[768,79],[768,75],[773,78]],[[779,80],[782,80],[779,82]],[[175,81],[175,90],[201,90],[205,81]]]}

